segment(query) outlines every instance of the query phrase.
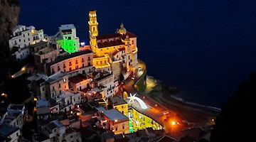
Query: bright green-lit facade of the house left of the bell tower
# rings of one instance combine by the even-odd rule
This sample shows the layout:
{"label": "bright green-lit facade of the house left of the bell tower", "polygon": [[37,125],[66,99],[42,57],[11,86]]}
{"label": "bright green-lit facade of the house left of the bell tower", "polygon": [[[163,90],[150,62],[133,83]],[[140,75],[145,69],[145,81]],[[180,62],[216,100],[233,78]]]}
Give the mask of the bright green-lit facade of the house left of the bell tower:
{"label": "bright green-lit facade of the house left of the bell tower", "polygon": [[75,40],[57,40],[57,43],[60,44],[60,47],[63,48],[68,53],[75,53],[79,51],[79,41]]}

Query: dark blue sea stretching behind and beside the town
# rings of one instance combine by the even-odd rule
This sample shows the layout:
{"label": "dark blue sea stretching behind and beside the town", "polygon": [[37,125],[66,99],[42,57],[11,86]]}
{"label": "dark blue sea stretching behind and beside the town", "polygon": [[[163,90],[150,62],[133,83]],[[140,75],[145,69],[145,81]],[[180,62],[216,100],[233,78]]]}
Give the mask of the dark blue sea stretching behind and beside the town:
{"label": "dark blue sea stretching behind and beside the town", "polygon": [[256,71],[256,1],[250,0],[20,0],[19,24],[47,35],[73,23],[89,44],[88,11],[100,35],[120,23],[137,35],[148,75],[174,85],[178,97],[220,107]]}

